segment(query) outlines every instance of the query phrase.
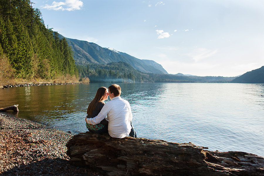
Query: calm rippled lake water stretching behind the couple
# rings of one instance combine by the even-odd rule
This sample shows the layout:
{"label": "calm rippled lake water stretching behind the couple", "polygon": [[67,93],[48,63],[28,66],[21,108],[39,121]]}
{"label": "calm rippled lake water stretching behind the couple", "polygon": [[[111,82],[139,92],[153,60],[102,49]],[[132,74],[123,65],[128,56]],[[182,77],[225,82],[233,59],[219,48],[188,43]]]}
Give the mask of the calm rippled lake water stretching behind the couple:
{"label": "calm rippled lake water stretching behind the couple", "polygon": [[[19,118],[73,133],[87,131],[89,102],[107,83],[0,89],[0,107]],[[138,137],[192,142],[209,150],[264,156],[264,84],[120,84]],[[107,102],[107,101],[106,101]],[[13,114],[10,112],[9,114]]]}

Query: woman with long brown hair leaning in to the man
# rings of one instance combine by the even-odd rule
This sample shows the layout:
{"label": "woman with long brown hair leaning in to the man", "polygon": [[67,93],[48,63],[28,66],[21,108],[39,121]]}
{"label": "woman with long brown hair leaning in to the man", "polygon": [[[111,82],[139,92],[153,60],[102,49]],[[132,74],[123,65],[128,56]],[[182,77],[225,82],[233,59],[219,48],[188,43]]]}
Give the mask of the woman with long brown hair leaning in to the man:
{"label": "woman with long brown hair leaning in to the man", "polygon": [[[104,106],[104,100],[108,99],[108,89],[106,87],[99,87],[97,90],[94,99],[88,106],[87,109],[87,116],[85,117],[85,121],[87,118],[94,118],[99,114],[101,109]],[[86,122],[86,127],[92,133],[103,134],[108,132],[108,120],[104,119],[100,123],[96,125],[92,125]]]}

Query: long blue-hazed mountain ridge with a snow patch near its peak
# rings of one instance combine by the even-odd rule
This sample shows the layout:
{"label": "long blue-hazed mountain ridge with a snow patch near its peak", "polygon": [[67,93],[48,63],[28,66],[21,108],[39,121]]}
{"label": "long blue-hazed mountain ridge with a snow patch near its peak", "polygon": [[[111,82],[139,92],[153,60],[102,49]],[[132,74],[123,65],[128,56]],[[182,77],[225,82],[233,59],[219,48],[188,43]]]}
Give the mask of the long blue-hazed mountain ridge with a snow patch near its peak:
{"label": "long blue-hazed mountain ridge with a snow patch near its peak", "polygon": [[[60,38],[64,38],[62,35]],[[77,65],[107,64],[111,62],[126,62],[133,68],[146,73],[168,74],[167,71],[153,60],[140,60],[136,57],[114,50],[113,48],[102,48],[101,46],[77,39],[66,38],[72,47],[75,63]]]}

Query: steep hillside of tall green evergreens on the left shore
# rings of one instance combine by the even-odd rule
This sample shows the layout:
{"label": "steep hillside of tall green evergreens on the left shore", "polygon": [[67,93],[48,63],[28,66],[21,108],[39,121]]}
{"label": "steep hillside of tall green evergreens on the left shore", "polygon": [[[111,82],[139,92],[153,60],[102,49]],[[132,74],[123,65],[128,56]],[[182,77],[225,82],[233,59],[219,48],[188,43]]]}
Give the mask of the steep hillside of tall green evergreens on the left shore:
{"label": "steep hillside of tall green evergreens on the left shore", "polygon": [[31,5],[29,0],[0,1],[1,62],[11,65],[13,69],[8,72],[13,70],[15,78],[78,76],[66,39],[53,35],[52,28],[45,27],[40,10]]}

